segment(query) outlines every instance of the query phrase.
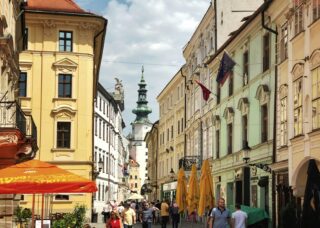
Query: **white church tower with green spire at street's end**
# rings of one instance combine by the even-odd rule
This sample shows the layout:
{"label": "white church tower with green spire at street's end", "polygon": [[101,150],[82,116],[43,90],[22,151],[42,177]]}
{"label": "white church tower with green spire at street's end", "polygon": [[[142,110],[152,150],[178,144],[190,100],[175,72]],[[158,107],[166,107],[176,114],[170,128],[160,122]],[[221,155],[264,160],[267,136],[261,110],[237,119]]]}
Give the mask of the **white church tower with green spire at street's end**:
{"label": "white church tower with green spire at street's end", "polygon": [[132,134],[130,137],[130,156],[139,164],[139,176],[141,178],[141,185],[144,180],[148,177],[147,174],[147,163],[148,163],[148,148],[144,141],[144,137],[147,132],[150,131],[152,123],[149,121],[148,115],[152,112],[151,108],[148,107],[147,101],[147,83],[144,80],[144,68],[142,66],[142,74],[139,82],[138,89],[138,101],[137,107],[132,110],[136,114],[136,119],[131,123]]}

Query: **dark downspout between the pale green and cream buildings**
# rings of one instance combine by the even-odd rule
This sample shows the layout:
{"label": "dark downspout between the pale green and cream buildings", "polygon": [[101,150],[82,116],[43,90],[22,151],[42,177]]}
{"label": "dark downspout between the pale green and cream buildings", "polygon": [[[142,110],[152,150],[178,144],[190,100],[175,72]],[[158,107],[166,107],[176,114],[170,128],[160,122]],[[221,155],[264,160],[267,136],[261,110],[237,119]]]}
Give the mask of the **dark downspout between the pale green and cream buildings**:
{"label": "dark downspout between the pale green and cream buildings", "polygon": [[[272,28],[267,27],[267,25],[265,24],[265,11],[266,9],[269,7],[270,3],[272,2],[272,0],[265,0],[264,1],[264,8],[261,11],[261,16],[262,16],[262,21],[261,21],[261,25],[262,28],[266,29],[267,31],[273,33],[276,37],[275,37],[275,45],[277,45],[277,41],[278,41],[278,32],[277,30],[274,30]],[[275,50],[277,51],[277,47],[275,47]],[[277,59],[277,55],[275,55],[275,66],[274,66],[274,74],[275,74],[275,78],[274,78],[274,108],[273,108],[273,145],[272,145],[272,163],[274,164],[276,162],[276,150],[277,150],[277,86],[278,86],[278,67],[277,67],[277,63],[278,59]],[[275,202],[275,197],[276,197],[276,193],[275,193],[275,185],[276,185],[276,175],[274,172],[272,172],[272,227],[276,227],[276,202]]]}

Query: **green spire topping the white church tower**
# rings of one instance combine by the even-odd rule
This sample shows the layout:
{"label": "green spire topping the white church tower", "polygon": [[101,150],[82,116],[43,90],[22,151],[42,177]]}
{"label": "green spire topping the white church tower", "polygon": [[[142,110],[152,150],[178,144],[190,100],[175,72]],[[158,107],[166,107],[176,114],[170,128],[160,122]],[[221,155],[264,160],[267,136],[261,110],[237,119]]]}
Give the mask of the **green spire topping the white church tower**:
{"label": "green spire topping the white church tower", "polygon": [[136,114],[136,119],[133,123],[150,123],[148,119],[148,115],[152,112],[151,108],[148,107],[148,101],[147,101],[147,83],[144,80],[143,73],[144,68],[142,66],[141,68],[141,79],[138,89],[138,101],[137,101],[137,107],[132,110],[134,114]]}

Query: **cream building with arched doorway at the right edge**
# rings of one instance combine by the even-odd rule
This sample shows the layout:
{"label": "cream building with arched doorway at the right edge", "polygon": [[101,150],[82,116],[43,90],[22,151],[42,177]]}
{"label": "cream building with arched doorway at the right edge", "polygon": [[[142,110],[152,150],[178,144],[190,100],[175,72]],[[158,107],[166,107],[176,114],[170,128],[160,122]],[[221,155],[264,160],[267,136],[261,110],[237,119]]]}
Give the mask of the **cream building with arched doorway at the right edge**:
{"label": "cream building with arched doorway at the right edge", "polygon": [[314,159],[320,168],[320,3],[274,1],[270,16],[279,31],[278,131],[273,165],[277,209],[283,209],[293,194],[299,216],[309,160]]}

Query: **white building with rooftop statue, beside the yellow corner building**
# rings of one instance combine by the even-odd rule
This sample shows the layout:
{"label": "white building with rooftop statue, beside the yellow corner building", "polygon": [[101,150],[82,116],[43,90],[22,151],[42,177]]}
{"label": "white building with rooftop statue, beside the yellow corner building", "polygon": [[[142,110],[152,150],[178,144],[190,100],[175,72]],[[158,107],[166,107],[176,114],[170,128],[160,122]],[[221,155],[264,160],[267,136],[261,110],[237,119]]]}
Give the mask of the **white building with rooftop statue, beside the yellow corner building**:
{"label": "white building with rooftop statue, beside the yellow corner building", "polygon": [[98,217],[102,216],[101,212],[107,202],[123,201],[128,192],[128,175],[125,169],[128,150],[122,132],[125,124],[121,114],[124,110],[123,99],[120,82],[116,84],[114,93],[109,93],[98,84],[94,116],[94,163],[98,187],[94,208]]}

